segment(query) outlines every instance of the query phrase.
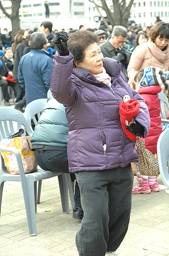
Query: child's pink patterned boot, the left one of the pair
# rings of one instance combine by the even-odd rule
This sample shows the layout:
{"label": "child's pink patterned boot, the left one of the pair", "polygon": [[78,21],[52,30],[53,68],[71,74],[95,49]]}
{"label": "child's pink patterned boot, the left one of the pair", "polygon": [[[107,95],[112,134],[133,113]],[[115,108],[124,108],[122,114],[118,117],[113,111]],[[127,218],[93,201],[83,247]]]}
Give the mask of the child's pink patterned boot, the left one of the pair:
{"label": "child's pink patterned boot, the left one of the pair", "polygon": [[149,194],[151,189],[148,185],[148,177],[137,173],[137,186],[133,187],[132,194]]}

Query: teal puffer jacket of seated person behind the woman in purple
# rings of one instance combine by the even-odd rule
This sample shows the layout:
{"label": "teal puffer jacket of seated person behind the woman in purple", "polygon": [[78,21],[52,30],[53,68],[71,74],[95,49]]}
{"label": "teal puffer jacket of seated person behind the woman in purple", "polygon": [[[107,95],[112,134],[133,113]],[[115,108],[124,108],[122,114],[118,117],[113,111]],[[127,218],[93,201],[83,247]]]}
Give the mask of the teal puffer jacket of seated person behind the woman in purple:
{"label": "teal puffer jacket of seated person behind the woman in purple", "polygon": [[32,146],[67,147],[68,128],[65,107],[57,102],[50,93],[48,102],[35,126],[31,138]]}

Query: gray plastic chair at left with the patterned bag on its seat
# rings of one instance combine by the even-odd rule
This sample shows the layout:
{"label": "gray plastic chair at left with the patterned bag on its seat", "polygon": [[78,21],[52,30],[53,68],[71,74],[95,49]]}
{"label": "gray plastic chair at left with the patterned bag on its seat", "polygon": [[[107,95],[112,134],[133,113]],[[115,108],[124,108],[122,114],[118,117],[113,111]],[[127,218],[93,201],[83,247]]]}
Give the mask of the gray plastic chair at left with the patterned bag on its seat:
{"label": "gray plastic chair at left with the patterned bag on its seat", "polygon": [[[25,128],[29,135],[32,134],[32,130],[27,124],[24,115],[11,108],[0,107],[0,139],[5,138],[9,133],[15,133],[20,128]],[[72,182],[70,174],[63,174],[59,172],[46,171],[46,170],[36,170],[32,173],[25,174],[23,162],[21,159],[20,152],[12,147],[0,147],[0,151],[7,151],[14,153],[20,174],[11,175],[10,172],[5,167],[3,158],[0,155],[0,209],[2,201],[3,185],[5,181],[20,181],[22,184],[22,190],[24,195],[24,204],[27,216],[27,224],[29,229],[29,234],[31,236],[36,235],[36,203],[37,203],[37,181],[42,181],[43,179],[48,179],[54,176],[58,176],[59,189],[62,202],[63,213],[69,213],[69,198],[68,189],[71,198],[72,208],[74,207],[74,198],[72,192]],[[69,185],[67,187],[67,184]]]}

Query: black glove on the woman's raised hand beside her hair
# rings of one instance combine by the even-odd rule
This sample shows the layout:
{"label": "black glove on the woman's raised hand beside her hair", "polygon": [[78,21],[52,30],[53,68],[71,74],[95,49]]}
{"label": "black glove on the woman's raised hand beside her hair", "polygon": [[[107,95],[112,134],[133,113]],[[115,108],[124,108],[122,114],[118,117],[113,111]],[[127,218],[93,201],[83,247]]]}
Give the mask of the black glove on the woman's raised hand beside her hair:
{"label": "black glove on the woman's raised hand beside her hair", "polygon": [[69,35],[67,32],[58,32],[56,34],[56,39],[54,41],[55,45],[58,48],[58,52],[60,53],[61,56],[66,56],[69,55],[69,50],[68,50],[68,41]]}

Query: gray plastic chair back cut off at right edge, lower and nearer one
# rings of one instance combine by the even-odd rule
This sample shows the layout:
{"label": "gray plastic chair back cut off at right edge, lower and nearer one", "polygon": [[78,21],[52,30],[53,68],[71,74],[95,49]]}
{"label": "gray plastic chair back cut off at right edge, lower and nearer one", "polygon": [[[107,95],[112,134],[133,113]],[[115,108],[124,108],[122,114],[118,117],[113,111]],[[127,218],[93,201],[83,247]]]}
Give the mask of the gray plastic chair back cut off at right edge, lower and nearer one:
{"label": "gray plastic chair back cut off at right edge, lower and nearer one", "polygon": [[169,189],[169,128],[164,130],[158,138],[157,156],[162,181]]}

